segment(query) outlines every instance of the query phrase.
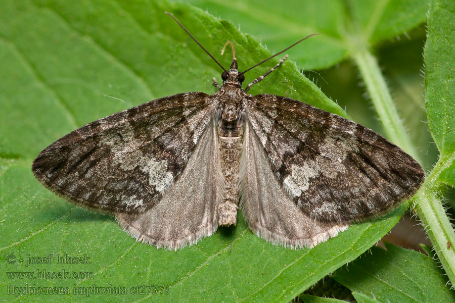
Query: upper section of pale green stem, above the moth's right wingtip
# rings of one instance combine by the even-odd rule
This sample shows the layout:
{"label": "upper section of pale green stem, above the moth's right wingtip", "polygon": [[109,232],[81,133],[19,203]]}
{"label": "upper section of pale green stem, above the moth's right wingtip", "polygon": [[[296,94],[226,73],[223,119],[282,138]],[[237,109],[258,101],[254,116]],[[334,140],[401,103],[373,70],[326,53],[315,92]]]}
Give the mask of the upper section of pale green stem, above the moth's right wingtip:
{"label": "upper section of pale green stem, above the moth's right wingtip", "polygon": [[420,161],[411,138],[407,135],[376,58],[366,48],[356,49],[352,57],[357,64],[387,138]]}

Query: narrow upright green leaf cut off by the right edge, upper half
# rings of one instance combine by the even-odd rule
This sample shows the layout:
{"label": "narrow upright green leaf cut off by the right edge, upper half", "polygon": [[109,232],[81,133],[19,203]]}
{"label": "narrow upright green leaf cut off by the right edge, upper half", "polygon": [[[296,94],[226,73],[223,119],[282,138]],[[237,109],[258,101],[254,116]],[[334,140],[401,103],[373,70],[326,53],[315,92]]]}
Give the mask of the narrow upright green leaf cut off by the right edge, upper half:
{"label": "narrow upright green leaf cut off by the right edge, upper half", "polygon": [[437,180],[455,186],[455,7],[434,1],[425,46],[425,108],[428,127],[439,149]]}

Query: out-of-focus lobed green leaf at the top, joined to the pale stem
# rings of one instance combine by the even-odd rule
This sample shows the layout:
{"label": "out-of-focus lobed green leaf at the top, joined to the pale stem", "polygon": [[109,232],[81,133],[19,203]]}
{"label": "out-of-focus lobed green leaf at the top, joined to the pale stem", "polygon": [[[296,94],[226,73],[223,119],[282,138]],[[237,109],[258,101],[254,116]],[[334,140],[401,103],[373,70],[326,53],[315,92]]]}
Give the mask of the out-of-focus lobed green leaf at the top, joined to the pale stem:
{"label": "out-of-focus lobed green leaf at the top, joined to the pale stem", "polygon": [[424,22],[427,1],[321,0],[240,1],[191,0],[191,4],[239,25],[271,47],[272,53],[300,38],[319,33],[290,49],[290,58],[305,69],[339,63],[361,48],[369,48]]}

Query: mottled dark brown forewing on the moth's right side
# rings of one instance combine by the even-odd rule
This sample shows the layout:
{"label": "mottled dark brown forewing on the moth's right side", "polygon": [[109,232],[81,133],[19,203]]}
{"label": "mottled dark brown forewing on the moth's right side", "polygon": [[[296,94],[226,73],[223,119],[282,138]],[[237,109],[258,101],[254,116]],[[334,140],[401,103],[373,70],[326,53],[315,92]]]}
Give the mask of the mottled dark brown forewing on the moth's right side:
{"label": "mottled dark brown forewing on the moth's right side", "polygon": [[377,217],[423,182],[411,156],[340,116],[271,94],[249,97],[246,111],[271,170],[307,216],[338,223]]}

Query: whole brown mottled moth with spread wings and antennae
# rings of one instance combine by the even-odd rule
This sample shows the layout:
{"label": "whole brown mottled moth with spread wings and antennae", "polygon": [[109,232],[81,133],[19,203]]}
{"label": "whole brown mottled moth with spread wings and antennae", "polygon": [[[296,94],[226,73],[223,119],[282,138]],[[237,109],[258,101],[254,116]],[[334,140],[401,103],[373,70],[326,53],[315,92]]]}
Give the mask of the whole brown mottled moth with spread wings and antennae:
{"label": "whole brown mottled moth with spread wings and antennae", "polygon": [[[169,13],[167,13],[169,14]],[[376,132],[300,101],[250,95],[234,46],[213,95],[185,92],[96,120],[55,141],[34,176],[107,213],[138,241],[177,249],[236,225],[275,244],[314,245],[412,196],[421,166]],[[230,41],[228,41],[229,43]],[[226,43],[226,44],[228,44]],[[226,46],[226,45],[225,45]]]}

